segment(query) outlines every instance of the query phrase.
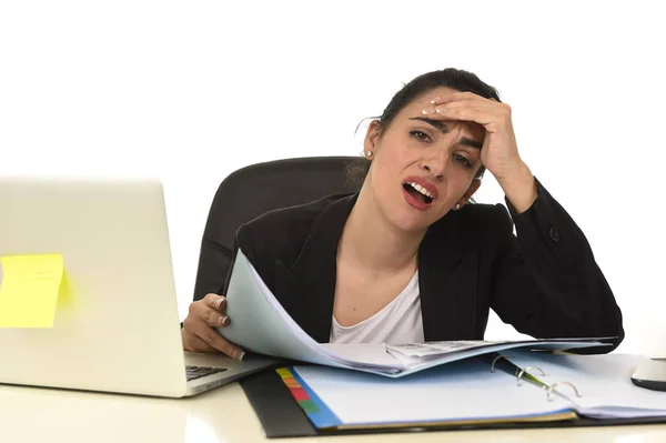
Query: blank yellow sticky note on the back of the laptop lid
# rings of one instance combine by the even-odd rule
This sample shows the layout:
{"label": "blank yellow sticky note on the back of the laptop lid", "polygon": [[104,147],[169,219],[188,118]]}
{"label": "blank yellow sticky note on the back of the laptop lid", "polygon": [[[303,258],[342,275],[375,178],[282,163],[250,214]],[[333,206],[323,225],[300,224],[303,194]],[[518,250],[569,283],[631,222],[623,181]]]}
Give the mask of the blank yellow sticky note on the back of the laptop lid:
{"label": "blank yellow sticky note on the back of the laptop lid", "polygon": [[0,264],[0,328],[53,328],[63,286],[62,255],[8,255]]}

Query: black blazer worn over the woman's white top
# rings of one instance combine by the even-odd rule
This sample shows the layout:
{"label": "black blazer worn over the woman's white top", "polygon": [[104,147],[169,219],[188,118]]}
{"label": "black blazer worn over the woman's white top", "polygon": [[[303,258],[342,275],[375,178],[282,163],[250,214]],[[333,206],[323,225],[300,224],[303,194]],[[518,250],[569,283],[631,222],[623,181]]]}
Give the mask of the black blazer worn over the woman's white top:
{"label": "black blazer worn over the woman's white top", "polygon": [[[467,204],[428,228],[418,250],[426,341],[483,340],[490,309],[533,338],[616,336],[605,351],[624,339],[620,310],[587,240],[536,183],[537,199],[521,214],[508,200],[508,213],[501,204]],[[236,233],[234,259],[240,248],[320,343],[329,341],[337,244],[356,198],[270,211]]]}

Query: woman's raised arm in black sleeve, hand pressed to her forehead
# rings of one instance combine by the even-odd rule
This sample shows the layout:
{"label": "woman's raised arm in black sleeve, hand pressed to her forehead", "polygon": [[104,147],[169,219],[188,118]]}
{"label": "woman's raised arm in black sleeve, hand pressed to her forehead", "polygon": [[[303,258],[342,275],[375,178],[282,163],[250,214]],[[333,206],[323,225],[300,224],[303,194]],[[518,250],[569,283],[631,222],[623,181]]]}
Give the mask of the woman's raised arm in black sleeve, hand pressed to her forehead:
{"label": "woman's raised arm in black sleeve, hand pressed to her forehead", "polygon": [[583,232],[523,162],[511,107],[472,92],[431,103],[424,110],[431,118],[483,125],[481,161],[506,194],[512,217],[503,210],[497,220],[504,228],[491,301],[500,318],[533,336],[614,335],[619,344],[622,313],[613,292]]}

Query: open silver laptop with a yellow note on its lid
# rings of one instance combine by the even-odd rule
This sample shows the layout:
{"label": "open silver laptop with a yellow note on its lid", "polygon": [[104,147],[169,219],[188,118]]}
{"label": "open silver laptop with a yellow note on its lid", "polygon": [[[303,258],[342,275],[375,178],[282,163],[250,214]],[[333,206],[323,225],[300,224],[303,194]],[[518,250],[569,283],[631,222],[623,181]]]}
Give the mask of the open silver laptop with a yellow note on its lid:
{"label": "open silver laptop with a yellow note on its lid", "polygon": [[0,384],[185,397],[276,364],[183,351],[159,180],[1,178],[0,208],[0,258],[61,254],[69,285],[52,328],[0,326]]}

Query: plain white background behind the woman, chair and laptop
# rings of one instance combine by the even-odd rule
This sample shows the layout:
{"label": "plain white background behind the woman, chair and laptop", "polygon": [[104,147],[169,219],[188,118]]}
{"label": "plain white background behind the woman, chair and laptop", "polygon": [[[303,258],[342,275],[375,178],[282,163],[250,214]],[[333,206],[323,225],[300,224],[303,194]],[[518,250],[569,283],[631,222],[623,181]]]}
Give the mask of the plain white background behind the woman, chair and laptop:
{"label": "plain white background behind the woman, chair and laptop", "polygon": [[[162,178],[181,316],[218,184],[361,150],[404,82],[498,88],[521,152],[586,233],[625,352],[666,356],[666,32],[644,1],[4,1],[0,173]],[[502,201],[492,175],[477,194]],[[488,339],[518,335],[493,318]]]}

